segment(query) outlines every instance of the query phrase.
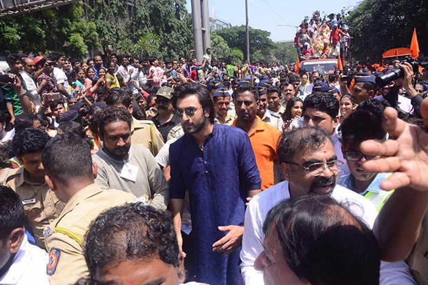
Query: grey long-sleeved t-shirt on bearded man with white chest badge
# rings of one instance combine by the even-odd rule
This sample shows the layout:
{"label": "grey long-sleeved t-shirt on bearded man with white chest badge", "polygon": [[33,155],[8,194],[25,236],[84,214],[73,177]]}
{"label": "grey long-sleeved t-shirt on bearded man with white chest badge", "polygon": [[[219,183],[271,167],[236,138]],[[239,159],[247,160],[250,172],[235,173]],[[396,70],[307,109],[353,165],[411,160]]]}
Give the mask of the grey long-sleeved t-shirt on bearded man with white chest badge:
{"label": "grey long-sleeved t-shirt on bearded man with white chest badge", "polygon": [[161,168],[150,150],[144,146],[131,146],[126,163],[138,168],[135,181],[121,177],[124,161],[113,159],[104,148],[93,155],[98,166],[95,182],[102,189],[114,188],[133,193],[136,197],[147,197],[151,206],[166,210],[169,201],[168,184]]}

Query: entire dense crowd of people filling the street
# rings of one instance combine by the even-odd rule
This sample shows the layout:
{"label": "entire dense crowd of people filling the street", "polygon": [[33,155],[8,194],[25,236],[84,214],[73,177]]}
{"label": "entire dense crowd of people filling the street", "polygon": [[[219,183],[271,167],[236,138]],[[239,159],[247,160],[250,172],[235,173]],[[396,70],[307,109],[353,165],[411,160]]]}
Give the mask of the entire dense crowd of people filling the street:
{"label": "entire dense crowd of people filling the street", "polygon": [[427,284],[427,70],[7,62],[0,284]]}

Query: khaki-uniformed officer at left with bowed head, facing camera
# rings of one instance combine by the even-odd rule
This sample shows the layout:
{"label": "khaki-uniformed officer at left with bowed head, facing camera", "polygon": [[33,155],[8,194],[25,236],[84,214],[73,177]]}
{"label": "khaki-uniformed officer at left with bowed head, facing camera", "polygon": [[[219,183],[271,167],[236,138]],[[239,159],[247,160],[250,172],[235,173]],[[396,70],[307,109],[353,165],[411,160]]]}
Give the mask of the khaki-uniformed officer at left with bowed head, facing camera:
{"label": "khaki-uniformed officer at left with bowed head, facing camera", "polygon": [[4,183],[21,197],[30,230],[41,248],[45,248],[43,229],[59,217],[65,205],[49,189],[44,178],[46,171],[41,164],[41,153],[49,140],[48,133],[41,129],[18,132],[12,140],[12,148],[23,166],[12,170]]}

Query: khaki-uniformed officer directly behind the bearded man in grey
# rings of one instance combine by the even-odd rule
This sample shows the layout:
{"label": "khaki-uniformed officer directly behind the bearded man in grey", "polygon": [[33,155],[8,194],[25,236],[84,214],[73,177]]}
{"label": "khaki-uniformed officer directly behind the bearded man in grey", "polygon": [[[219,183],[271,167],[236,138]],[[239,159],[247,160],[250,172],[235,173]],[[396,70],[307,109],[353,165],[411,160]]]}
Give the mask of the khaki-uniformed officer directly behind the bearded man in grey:
{"label": "khaki-uniformed officer directly behind the bearded man in grey", "polygon": [[[133,114],[133,104],[131,104],[130,96],[119,88],[113,89],[110,92],[110,95],[106,99],[106,104],[108,106],[125,108],[131,115]],[[133,117],[130,135],[133,145],[145,146],[153,156],[157,155],[162,146],[164,146],[164,139],[155,124],[153,124],[153,121],[140,121]]]}

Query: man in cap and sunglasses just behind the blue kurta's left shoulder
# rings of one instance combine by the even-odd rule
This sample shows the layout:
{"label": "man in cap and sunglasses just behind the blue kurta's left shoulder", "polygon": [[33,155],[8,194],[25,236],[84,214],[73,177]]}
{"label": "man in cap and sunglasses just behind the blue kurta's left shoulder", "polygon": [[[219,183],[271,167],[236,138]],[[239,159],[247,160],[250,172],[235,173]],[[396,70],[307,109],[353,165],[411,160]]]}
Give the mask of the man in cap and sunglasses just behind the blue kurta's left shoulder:
{"label": "man in cap and sunglasses just behind the blue kurta's left shoulder", "polygon": [[157,115],[151,119],[162,134],[164,141],[168,137],[168,132],[179,124],[179,119],[175,116],[173,104],[171,104],[171,98],[173,98],[172,92],[173,88],[168,86],[162,86],[157,91],[155,99]]}

